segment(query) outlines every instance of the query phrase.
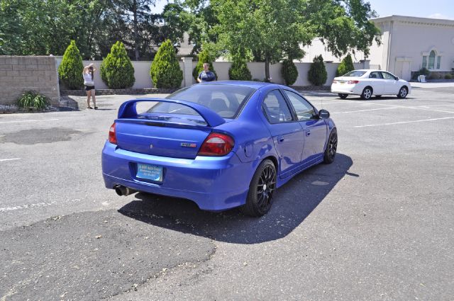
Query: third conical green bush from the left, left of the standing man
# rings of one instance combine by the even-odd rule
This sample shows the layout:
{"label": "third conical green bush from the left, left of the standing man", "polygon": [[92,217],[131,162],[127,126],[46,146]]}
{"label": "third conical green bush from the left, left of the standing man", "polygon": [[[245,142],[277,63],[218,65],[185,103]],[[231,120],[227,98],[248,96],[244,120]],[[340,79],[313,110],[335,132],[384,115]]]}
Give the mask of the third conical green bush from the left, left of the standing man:
{"label": "third conical green bush from the left, left of the standing man", "polygon": [[150,76],[156,88],[173,89],[182,85],[183,72],[179,68],[175,48],[165,40],[157,50],[150,68]]}

